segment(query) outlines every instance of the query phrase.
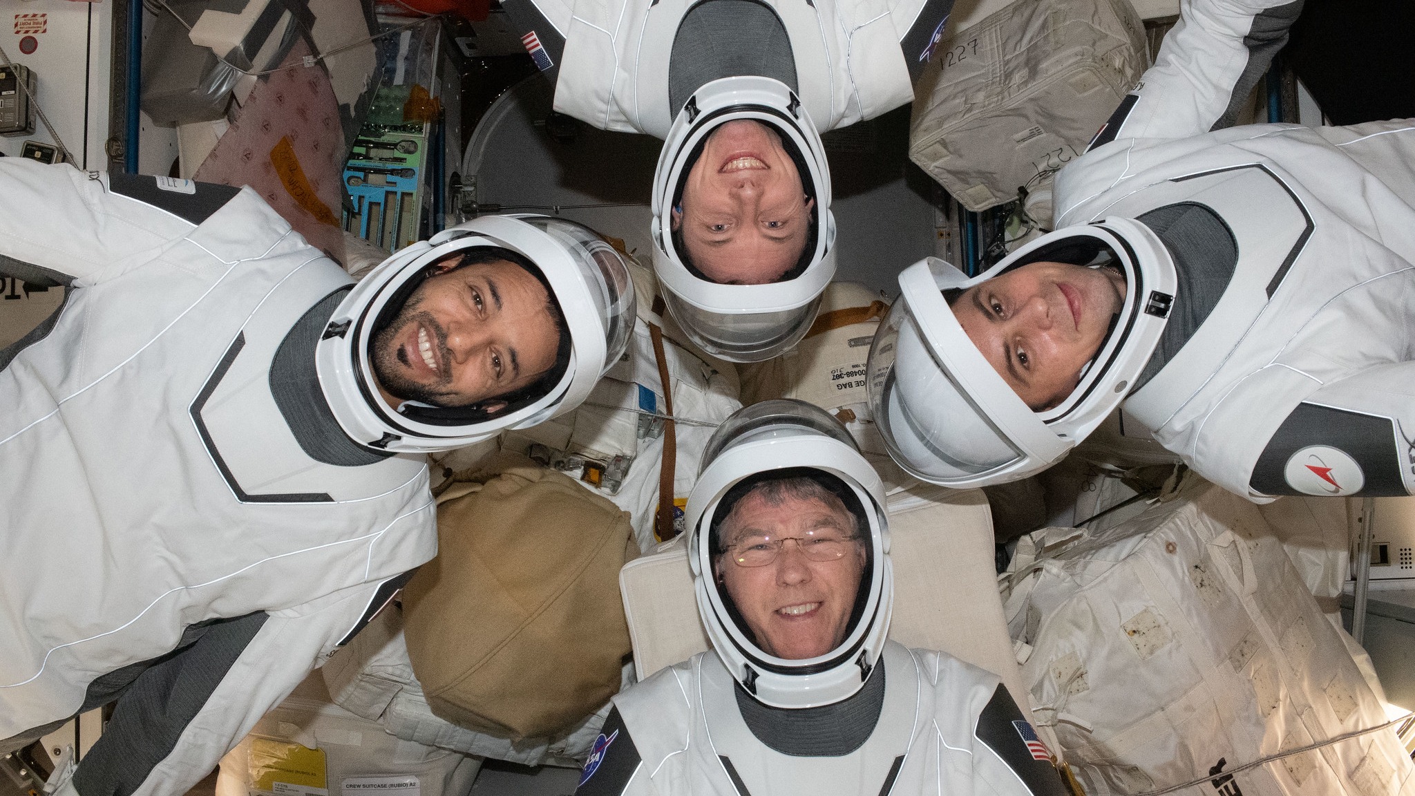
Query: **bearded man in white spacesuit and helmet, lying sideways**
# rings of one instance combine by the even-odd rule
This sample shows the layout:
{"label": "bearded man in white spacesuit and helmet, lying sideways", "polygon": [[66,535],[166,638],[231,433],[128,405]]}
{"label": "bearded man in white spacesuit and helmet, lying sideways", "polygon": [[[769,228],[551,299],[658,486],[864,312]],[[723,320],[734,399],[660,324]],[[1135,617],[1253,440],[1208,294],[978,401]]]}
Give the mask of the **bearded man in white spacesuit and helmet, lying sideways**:
{"label": "bearded man in white spacesuit and helmet, lying sideways", "polygon": [[357,286],[249,188],[0,163],[0,751],[112,703],[61,795],[183,793],[436,552],[424,452],[569,411],[634,290],[488,217]]}

